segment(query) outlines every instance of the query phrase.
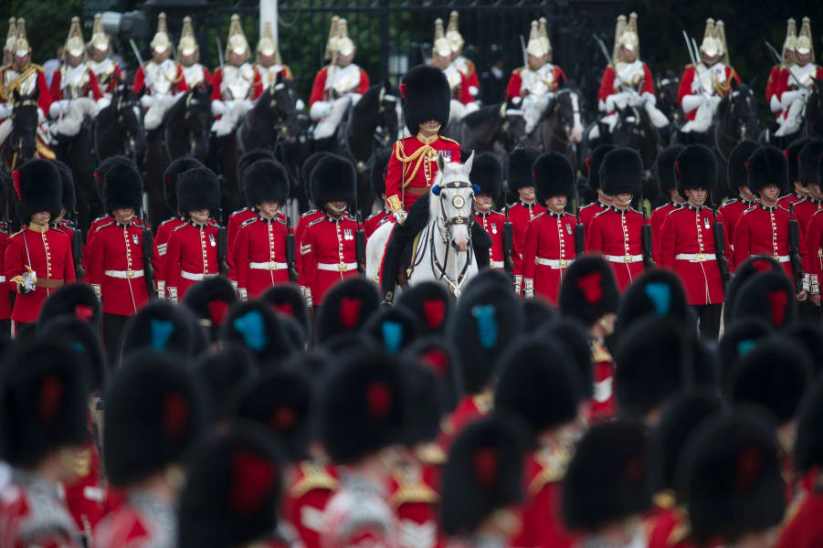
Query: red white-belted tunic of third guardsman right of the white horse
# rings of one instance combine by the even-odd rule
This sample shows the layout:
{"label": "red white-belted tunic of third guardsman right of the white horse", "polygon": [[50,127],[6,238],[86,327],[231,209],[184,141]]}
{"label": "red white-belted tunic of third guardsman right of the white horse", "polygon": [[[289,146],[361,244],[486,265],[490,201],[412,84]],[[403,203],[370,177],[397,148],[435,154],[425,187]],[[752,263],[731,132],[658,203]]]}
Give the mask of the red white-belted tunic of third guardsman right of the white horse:
{"label": "red white-belted tunic of third guardsman right of the white horse", "polygon": [[577,219],[565,212],[546,211],[529,223],[522,255],[523,287],[533,279],[534,295],[556,306],[560,282],[575,259]]}

